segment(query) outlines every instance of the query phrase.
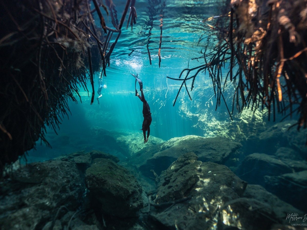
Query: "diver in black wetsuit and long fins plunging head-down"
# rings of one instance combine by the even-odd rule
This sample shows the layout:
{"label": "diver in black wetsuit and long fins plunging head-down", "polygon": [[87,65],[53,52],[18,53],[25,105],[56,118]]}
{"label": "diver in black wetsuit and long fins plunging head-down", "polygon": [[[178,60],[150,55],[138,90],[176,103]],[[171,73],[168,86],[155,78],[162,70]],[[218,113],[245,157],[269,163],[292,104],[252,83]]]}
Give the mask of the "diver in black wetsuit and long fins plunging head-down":
{"label": "diver in black wetsuit and long fins plunging head-down", "polygon": [[[138,75],[134,75],[131,74],[132,76],[135,77],[135,96],[138,96],[138,98],[140,98],[140,100],[143,102],[143,125],[142,125],[142,129],[143,130],[143,135],[144,135],[144,144],[148,141],[148,137],[150,134],[150,124],[151,124],[151,113],[150,113],[150,108],[149,105],[147,103],[147,101],[145,100],[144,94],[143,94],[143,82],[141,81],[141,79],[138,78]],[[141,96],[140,94],[138,94],[138,90],[136,89],[136,82],[138,81],[139,85],[140,85],[140,91],[141,91]],[[147,138],[146,138],[146,131],[147,131]]]}

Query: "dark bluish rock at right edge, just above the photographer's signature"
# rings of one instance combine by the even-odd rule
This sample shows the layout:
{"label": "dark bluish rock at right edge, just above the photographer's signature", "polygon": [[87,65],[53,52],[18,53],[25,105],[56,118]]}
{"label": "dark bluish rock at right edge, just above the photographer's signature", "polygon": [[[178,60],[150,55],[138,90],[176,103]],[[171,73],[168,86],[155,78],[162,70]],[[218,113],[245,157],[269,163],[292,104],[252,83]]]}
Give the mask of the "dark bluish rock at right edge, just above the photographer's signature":
{"label": "dark bluish rock at right edge, just above the photographer's signature", "polygon": [[265,176],[265,188],[283,201],[307,211],[307,171]]}

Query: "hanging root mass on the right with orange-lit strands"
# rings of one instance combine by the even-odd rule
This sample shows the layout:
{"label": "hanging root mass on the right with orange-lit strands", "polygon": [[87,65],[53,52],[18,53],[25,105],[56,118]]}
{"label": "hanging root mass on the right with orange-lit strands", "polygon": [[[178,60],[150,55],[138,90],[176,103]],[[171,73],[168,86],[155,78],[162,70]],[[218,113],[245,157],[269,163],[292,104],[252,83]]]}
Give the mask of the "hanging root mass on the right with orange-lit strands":
{"label": "hanging root mass on the right with orange-lit strands", "polygon": [[[230,76],[235,90],[232,112],[227,108],[230,115],[234,107],[239,113],[245,108],[266,108],[269,120],[271,115],[275,120],[276,113],[297,111],[298,128],[306,128],[307,4],[305,0],[268,3],[232,0],[231,5],[221,8],[222,15],[206,20],[215,20],[215,25],[204,27],[208,35],[205,52],[194,58],[202,59],[205,65],[183,70],[187,71],[185,79],[180,79],[182,73],[179,79],[171,79],[183,81],[179,91],[193,79],[192,90],[196,75],[208,71],[217,107],[221,98],[226,104],[223,92]],[[196,74],[188,77],[192,70]]]}

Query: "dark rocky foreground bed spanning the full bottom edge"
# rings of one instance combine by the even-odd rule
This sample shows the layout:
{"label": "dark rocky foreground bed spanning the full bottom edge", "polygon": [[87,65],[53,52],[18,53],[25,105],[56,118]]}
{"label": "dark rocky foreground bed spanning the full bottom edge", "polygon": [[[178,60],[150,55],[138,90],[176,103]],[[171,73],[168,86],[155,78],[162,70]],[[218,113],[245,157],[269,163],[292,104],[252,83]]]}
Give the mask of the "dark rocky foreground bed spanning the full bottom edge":
{"label": "dark rocky foreground bed spanning the full bottom edge", "polygon": [[16,166],[0,183],[1,229],[305,229],[303,211],[193,151],[160,175],[122,165],[91,151]]}

